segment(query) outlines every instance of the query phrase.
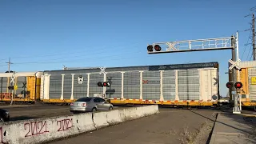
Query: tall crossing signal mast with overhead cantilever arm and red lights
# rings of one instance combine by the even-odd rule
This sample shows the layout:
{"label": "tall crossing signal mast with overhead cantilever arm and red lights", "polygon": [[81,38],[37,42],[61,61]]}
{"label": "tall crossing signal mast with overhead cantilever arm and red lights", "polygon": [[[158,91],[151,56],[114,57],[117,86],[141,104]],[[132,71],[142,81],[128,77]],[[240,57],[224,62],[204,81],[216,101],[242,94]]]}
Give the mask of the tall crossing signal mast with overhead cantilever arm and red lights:
{"label": "tall crossing signal mast with overhead cantilever arm and red lights", "polygon": [[[165,54],[165,53],[178,53],[178,52],[192,52],[192,51],[206,51],[206,50],[231,50],[232,58],[230,63],[230,82],[236,82],[236,71],[239,69],[240,59],[238,58],[238,32],[237,37],[234,35],[226,38],[206,38],[197,40],[186,40],[177,42],[154,42],[147,45],[147,54]],[[237,54],[236,54],[237,50]],[[238,72],[239,73],[239,72]],[[237,84],[240,86],[239,83]],[[230,98],[234,95],[234,114],[241,114],[238,108],[238,95],[234,92],[235,87],[231,83],[227,84],[230,87]],[[242,86],[242,83],[241,83]],[[219,98],[219,96],[218,96]]]}

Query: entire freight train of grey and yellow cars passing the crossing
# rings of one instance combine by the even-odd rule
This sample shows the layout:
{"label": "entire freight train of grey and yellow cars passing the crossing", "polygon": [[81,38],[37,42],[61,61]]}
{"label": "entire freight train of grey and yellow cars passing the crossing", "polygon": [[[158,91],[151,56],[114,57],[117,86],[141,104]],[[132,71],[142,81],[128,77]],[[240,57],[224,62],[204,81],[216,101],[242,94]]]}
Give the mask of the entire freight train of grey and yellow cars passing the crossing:
{"label": "entire freight train of grey and yellow cars passing the crossing", "polygon": [[[256,106],[256,85],[248,83],[256,69],[240,71],[246,83],[242,106]],[[11,81],[14,90],[8,89]],[[0,102],[10,102],[12,95],[13,102],[25,103],[69,104],[96,95],[114,105],[218,106],[220,102],[218,62],[1,73],[0,86]]]}

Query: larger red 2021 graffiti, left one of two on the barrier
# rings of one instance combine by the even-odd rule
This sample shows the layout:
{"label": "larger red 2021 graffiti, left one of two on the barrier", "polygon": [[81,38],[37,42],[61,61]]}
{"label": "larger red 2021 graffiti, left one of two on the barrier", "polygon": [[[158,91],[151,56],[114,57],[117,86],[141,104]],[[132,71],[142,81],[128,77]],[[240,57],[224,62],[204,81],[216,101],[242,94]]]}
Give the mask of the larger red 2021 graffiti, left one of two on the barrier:
{"label": "larger red 2021 graffiti, left one of two on the barrier", "polygon": [[49,132],[47,130],[46,121],[24,123],[24,129],[26,130],[25,137],[30,137],[38,134],[45,134]]}

